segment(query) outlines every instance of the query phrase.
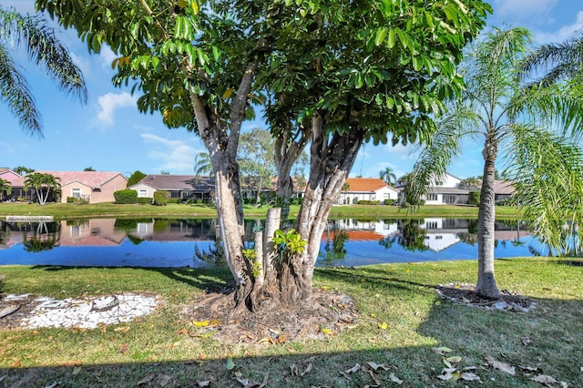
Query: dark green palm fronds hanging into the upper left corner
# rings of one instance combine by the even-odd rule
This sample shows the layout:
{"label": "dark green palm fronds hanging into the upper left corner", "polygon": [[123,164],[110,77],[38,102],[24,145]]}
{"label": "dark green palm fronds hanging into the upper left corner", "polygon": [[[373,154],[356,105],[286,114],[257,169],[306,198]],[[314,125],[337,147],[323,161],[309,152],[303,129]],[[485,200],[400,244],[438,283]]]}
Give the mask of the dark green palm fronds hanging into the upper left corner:
{"label": "dark green palm fronds hanging into the upper left corner", "polygon": [[40,113],[26,78],[15,64],[13,45],[24,46],[36,66],[55,80],[61,90],[76,95],[83,103],[87,102],[85,81],[46,19],[41,15],[20,15],[0,6],[0,100],[8,104],[26,132],[42,136]]}

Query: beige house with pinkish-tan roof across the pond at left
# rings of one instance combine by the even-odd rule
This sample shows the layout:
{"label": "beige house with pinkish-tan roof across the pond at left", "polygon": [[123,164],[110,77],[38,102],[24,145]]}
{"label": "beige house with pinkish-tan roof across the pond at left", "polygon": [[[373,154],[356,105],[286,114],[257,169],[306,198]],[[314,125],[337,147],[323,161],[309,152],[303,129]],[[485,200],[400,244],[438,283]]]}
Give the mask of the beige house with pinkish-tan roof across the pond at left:
{"label": "beige house with pinkish-tan roof across the pond at left", "polygon": [[68,197],[86,199],[89,203],[114,202],[113,195],[126,189],[128,179],[119,172],[106,171],[36,171],[50,174],[61,185],[60,201]]}

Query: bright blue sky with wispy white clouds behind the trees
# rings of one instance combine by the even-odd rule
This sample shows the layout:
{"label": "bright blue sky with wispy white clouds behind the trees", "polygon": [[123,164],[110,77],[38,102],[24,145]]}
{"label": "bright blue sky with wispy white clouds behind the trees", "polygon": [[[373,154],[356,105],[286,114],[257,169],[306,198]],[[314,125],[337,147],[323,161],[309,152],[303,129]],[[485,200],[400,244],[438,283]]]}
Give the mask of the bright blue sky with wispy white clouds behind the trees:
{"label": "bright blue sky with wispy white clouds behind the trees", "polygon": [[[525,26],[539,44],[561,42],[583,28],[583,3],[578,0],[492,0],[494,15],[489,26]],[[33,0],[0,0],[22,14],[34,12]],[[28,66],[26,56],[19,64],[42,114],[44,138],[31,137],[18,126],[15,117],[0,104],[0,167],[25,166],[38,170],[119,171],[135,170],[159,174],[193,174],[196,154],[205,151],[199,138],[186,129],[168,129],[158,113],[140,114],[136,96],[129,89],[111,86],[113,53],[107,48],[89,56],[87,46],[75,32],[57,32],[66,43],[86,78],[89,99],[81,105],[61,93],[42,72]],[[261,120],[247,122],[243,130],[265,128]],[[458,178],[482,174],[482,139],[464,146],[463,157],[455,160],[450,173]],[[354,163],[351,176],[378,178],[386,167],[397,177],[409,172],[414,163],[409,147],[367,144]]]}

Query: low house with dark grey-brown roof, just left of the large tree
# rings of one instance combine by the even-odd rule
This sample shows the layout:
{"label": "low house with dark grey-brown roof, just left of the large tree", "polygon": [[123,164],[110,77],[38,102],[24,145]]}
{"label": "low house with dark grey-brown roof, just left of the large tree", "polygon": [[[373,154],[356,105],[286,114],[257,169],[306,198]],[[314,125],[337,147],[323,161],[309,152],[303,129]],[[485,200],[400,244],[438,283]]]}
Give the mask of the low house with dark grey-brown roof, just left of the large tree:
{"label": "low house with dark grey-brown roof, just left of the large tree", "polygon": [[153,198],[155,191],[169,191],[171,199],[202,199],[212,201],[215,181],[196,175],[148,175],[128,189],[136,190],[138,198]]}

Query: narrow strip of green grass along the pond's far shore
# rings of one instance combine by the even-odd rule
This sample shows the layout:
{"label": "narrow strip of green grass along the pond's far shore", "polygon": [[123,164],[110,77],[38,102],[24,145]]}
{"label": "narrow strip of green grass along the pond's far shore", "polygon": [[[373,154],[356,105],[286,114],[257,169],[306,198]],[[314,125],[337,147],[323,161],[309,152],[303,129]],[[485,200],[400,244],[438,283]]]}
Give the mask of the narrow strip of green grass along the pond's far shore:
{"label": "narrow strip of green grass along the pond's far shore", "polygon": [[[245,217],[265,217],[268,206],[258,208],[245,205]],[[300,207],[291,209],[291,217],[298,214]],[[117,205],[114,203],[97,203],[91,205],[74,205],[68,203],[49,203],[44,206],[28,203],[0,203],[0,218],[5,216],[55,216],[57,219],[73,219],[82,217],[216,217],[216,209],[204,205],[169,204],[167,206],[153,205]],[[477,208],[470,206],[422,206],[419,209],[402,209],[397,206],[384,205],[349,205],[334,206],[330,213],[332,218],[410,218],[410,217],[467,217],[477,218]],[[517,208],[496,207],[497,218],[520,218]]]}

